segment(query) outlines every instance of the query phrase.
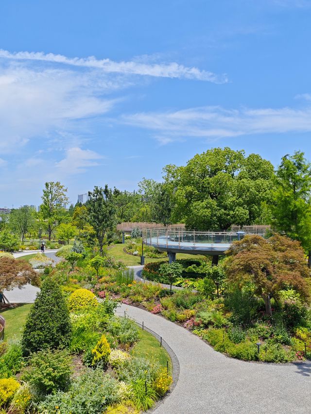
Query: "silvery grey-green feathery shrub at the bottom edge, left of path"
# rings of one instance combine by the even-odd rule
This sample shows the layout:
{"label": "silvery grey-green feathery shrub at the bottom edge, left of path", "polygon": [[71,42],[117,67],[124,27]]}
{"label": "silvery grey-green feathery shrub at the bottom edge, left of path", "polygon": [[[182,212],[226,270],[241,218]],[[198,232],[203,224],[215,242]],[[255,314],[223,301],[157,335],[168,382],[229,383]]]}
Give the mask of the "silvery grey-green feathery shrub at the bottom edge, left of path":
{"label": "silvery grey-green feathery shrub at the bottom edge, left of path", "polygon": [[71,383],[68,392],[58,391],[38,404],[38,413],[98,414],[121,400],[120,384],[103,370],[87,369]]}

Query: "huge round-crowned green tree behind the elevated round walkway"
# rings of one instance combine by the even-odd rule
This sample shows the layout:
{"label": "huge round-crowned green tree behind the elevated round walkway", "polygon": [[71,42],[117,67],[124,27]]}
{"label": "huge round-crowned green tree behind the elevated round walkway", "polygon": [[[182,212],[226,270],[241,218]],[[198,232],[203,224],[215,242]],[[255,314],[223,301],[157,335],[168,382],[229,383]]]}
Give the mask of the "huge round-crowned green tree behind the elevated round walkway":
{"label": "huge round-crowned green tree behind the elevated round walkway", "polygon": [[259,155],[214,148],[164,171],[174,222],[199,231],[262,222],[260,204],[269,199],[274,170]]}

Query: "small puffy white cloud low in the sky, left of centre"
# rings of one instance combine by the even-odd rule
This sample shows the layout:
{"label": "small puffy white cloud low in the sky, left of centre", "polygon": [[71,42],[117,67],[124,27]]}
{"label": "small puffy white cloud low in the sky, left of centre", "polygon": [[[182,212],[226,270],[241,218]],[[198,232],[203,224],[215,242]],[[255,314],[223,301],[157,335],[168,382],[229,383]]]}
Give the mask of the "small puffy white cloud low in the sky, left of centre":
{"label": "small puffy white cloud low in the sky, left of centre", "polygon": [[78,174],[86,171],[86,167],[98,166],[96,160],[104,157],[90,149],[81,149],[79,147],[69,148],[66,151],[66,157],[56,163],[56,167],[66,175]]}

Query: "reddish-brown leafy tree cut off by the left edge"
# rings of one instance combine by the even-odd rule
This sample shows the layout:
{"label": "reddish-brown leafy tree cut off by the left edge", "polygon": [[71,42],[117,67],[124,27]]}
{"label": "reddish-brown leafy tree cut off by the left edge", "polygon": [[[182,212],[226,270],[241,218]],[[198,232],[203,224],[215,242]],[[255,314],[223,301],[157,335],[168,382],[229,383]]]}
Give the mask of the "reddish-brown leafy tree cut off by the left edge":
{"label": "reddish-brown leafy tree cut off by the left edge", "polygon": [[26,283],[38,285],[40,278],[31,265],[14,257],[3,256],[0,258],[0,292],[21,288]]}

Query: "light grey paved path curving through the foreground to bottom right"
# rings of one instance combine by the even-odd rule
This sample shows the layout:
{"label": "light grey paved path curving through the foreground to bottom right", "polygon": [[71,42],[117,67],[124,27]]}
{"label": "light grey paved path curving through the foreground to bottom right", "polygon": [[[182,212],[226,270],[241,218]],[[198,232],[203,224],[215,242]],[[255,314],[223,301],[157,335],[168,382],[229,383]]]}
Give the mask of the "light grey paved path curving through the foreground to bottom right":
{"label": "light grey paved path curving through the foreground to bottom right", "polygon": [[179,379],[155,414],[309,414],[311,363],[259,364],[225,357],[190,331],[142,309],[121,304],[175,352]]}

